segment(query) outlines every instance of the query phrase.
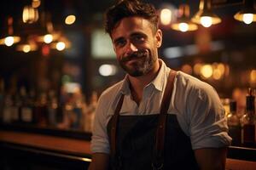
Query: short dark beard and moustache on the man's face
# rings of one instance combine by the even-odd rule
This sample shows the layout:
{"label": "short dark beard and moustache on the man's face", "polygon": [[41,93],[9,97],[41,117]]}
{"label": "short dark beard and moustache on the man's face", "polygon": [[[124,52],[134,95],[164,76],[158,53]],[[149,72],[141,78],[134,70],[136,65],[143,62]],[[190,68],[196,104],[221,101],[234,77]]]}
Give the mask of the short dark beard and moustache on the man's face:
{"label": "short dark beard and moustache on the man's face", "polygon": [[149,50],[144,49],[125,57],[122,56],[119,59],[119,65],[131,77],[140,77],[153,70],[156,59],[156,54],[152,54]]}

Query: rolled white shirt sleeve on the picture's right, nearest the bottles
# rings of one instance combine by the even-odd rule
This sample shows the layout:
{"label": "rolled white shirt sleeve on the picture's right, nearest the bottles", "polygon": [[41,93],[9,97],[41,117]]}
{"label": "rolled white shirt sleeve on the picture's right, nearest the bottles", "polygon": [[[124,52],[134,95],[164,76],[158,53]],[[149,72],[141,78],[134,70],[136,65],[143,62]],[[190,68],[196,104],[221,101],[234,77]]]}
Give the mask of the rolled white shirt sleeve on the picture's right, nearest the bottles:
{"label": "rolled white shirt sleeve on the picture's right, nearest the bottles", "polygon": [[224,107],[212,86],[203,83],[200,87],[193,87],[188,99],[189,133],[193,150],[230,145]]}

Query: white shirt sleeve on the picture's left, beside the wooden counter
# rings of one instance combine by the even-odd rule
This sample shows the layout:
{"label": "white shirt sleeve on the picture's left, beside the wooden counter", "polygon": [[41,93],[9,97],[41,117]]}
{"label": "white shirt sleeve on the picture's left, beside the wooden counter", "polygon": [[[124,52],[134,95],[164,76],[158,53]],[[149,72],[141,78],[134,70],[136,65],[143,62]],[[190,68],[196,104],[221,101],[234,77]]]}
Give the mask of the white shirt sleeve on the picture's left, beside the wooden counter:
{"label": "white shirt sleeve on the picture's left, beside the wooden counter", "polygon": [[96,107],[95,121],[92,129],[92,137],[90,142],[90,150],[92,153],[107,153],[109,154],[109,142],[107,131],[107,113],[105,101],[102,96],[98,100]]}

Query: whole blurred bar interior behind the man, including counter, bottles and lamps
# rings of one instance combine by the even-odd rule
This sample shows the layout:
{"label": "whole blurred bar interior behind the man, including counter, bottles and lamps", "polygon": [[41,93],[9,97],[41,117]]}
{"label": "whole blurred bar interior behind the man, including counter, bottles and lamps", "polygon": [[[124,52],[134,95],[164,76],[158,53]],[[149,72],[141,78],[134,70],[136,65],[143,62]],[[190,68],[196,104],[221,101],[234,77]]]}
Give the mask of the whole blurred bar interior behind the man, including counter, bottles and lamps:
{"label": "whole blurred bar interior behind the man, including counter, bottles and lamps", "polygon": [[[255,0],[146,2],[160,14],[160,59],[216,89],[229,127],[240,129],[230,133],[232,144],[244,146],[241,118],[255,115]],[[113,3],[1,1],[0,169],[88,167],[98,96],[125,76],[103,28]],[[255,148],[254,133],[247,136]],[[229,150],[228,157],[255,161],[255,150]],[[245,165],[255,169],[248,162],[229,169]]]}

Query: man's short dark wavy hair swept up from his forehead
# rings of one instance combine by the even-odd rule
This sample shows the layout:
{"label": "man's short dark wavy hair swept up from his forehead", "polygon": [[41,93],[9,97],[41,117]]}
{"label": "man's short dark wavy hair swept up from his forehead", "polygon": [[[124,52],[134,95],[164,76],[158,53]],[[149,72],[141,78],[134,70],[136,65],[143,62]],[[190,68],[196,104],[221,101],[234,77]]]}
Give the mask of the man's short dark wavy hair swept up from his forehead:
{"label": "man's short dark wavy hair swept up from his forehead", "polygon": [[151,3],[143,3],[142,0],[119,0],[118,3],[108,8],[105,14],[105,31],[111,36],[111,33],[120,20],[138,16],[148,20],[157,31],[159,14]]}

